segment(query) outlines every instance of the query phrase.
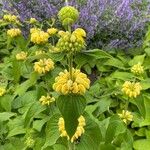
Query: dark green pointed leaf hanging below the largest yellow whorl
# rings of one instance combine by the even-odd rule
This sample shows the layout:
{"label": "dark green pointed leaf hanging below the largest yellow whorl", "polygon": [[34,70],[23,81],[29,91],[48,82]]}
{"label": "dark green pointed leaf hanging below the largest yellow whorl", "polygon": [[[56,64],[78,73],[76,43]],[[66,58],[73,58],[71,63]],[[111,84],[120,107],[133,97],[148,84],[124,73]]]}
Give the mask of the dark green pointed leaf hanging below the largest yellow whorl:
{"label": "dark green pointed leaf hanging below the largest yellow whorl", "polygon": [[85,109],[86,100],[80,95],[61,95],[57,106],[65,120],[66,131],[72,137],[78,125],[78,118]]}

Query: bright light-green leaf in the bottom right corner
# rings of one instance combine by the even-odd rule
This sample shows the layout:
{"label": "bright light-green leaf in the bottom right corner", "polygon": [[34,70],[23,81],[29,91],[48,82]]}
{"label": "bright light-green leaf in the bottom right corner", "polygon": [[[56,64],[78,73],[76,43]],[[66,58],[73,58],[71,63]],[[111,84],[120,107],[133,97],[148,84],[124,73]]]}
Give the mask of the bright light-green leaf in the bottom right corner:
{"label": "bright light-green leaf in the bottom right corner", "polygon": [[150,146],[150,139],[137,140],[133,143],[135,150],[148,150]]}

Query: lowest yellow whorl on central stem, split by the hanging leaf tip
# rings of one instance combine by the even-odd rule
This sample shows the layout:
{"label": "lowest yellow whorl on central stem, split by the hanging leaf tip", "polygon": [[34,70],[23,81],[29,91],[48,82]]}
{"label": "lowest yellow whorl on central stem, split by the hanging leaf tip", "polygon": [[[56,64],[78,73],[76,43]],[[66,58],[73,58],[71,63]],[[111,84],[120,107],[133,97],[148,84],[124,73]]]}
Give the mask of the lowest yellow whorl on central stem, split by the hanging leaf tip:
{"label": "lowest yellow whorl on central stem, split by the hanging leaf tip", "polygon": [[59,131],[60,131],[60,136],[61,137],[67,137],[68,140],[71,139],[71,142],[73,143],[75,140],[77,140],[84,132],[84,126],[86,125],[85,123],[85,118],[83,116],[80,116],[78,118],[78,126],[75,131],[75,134],[70,138],[69,135],[67,134],[67,131],[65,130],[65,121],[61,117],[59,118],[58,126],[59,126]]}

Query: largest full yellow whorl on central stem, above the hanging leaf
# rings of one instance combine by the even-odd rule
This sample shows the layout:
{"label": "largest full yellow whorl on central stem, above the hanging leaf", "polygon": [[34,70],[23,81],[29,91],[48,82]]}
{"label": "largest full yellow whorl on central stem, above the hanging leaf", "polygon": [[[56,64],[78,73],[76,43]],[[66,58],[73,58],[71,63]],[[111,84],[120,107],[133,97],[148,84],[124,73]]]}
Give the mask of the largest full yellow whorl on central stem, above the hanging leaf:
{"label": "largest full yellow whorl on central stem, above the hanging leaf", "polygon": [[89,87],[90,80],[87,78],[87,75],[74,68],[72,69],[72,79],[70,73],[65,70],[59,73],[53,84],[53,89],[63,95],[69,93],[83,95]]}

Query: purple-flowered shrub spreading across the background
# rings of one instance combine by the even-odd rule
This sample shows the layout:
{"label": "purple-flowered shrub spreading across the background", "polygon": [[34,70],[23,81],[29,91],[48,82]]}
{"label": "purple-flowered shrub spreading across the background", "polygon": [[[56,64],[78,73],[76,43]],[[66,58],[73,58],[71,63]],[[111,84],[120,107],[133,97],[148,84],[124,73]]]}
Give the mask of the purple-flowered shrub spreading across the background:
{"label": "purple-flowered shrub spreading across the background", "polygon": [[[63,0],[8,3],[4,0],[3,8],[17,12],[21,20],[35,17],[39,21],[55,18],[65,5]],[[74,26],[87,31],[87,44],[90,48],[126,50],[142,46],[145,25],[149,20],[147,0],[70,0],[69,4],[80,11],[80,18]]]}

